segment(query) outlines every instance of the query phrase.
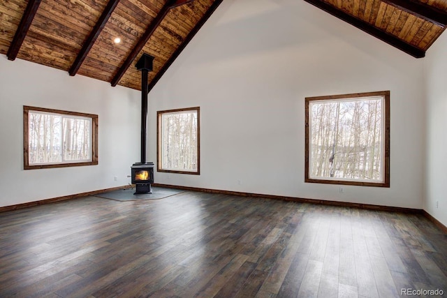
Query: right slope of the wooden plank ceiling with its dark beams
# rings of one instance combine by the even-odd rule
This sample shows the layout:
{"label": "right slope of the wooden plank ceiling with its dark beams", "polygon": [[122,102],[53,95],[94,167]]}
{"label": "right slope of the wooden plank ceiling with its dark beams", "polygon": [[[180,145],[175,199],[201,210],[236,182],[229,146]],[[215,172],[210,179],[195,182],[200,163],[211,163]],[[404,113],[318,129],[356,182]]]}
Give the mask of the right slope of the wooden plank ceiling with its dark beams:
{"label": "right slope of the wooden plank ceiling with its dark beams", "polygon": [[447,0],[305,1],[416,58],[447,25]]}

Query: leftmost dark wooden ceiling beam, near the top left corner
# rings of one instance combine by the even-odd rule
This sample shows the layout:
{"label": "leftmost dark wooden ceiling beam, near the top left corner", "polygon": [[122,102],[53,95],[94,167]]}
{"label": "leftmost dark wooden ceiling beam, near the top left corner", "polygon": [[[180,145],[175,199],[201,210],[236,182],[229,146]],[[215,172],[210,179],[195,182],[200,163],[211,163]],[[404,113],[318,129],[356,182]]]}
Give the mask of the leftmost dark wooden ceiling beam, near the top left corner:
{"label": "leftmost dark wooden ceiling beam, near the top left corner", "polygon": [[17,57],[20,47],[22,47],[23,40],[27,36],[31,22],[33,22],[34,16],[36,15],[40,4],[41,0],[28,1],[27,8],[25,8],[19,27],[17,27],[17,31],[15,31],[13,42],[10,44],[8,53],[6,54],[9,60],[14,61]]}

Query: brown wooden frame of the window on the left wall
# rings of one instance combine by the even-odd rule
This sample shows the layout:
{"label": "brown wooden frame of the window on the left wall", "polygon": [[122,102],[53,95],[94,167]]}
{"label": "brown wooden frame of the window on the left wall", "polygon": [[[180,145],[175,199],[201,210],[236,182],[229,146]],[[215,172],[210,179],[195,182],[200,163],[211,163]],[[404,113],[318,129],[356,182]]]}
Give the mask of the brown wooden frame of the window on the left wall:
{"label": "brown wooden frame of the window on the left wall", "polygon": [[[29,112],[43,112],[61,114],[75,117],[91,118],[91,161],[69,162],[69,163],[45,163],[29,164]],[[44,107],[23,106],[23,161],[24,170],[47,169],[54,167],[79,167],[83,165],[98,165],[98,115],[81,112],[70,112],[65,110],[47,109]]]}

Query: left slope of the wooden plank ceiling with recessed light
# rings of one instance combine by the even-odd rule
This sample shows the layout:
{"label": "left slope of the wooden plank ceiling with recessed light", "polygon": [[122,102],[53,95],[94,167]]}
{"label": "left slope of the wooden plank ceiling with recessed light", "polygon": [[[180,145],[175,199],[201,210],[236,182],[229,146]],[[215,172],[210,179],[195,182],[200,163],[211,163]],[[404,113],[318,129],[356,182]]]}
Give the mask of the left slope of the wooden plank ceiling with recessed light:
{"label": "left slope of the wooden plank ceiling with recessed light", "polygon": [[140,90],[146,52],[153,87],[221,1],[0,0],[0,53]]}

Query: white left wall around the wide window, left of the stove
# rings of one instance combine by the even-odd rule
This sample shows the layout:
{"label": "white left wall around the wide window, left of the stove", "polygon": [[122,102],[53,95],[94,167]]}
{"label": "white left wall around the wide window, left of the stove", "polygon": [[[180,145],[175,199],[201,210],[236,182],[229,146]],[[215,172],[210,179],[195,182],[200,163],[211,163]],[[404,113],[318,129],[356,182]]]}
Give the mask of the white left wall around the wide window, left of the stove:
{"label": "white left wall around the wide window, left of the stove", "polygon": [[[23,105],[98,114],[98,165],[23,170]],[[0,55],[0,140],[0,207],[127,185],[140,92]]]}

